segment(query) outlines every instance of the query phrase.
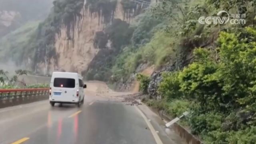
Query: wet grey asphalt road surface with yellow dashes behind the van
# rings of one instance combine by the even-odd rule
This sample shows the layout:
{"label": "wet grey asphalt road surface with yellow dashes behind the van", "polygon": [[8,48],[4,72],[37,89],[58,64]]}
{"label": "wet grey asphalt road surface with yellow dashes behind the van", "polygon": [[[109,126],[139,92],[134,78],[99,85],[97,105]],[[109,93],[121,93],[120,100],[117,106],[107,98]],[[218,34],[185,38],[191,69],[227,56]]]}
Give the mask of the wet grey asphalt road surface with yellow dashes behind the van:
{"label": "wet grey asphalt road surface with yellow dashes behind the van", "polygon": [[[156,144],[135,106],[87,101],[51,107],[48,100],[0,109],[0,144]],[[29,139],[28,139],[29,138]]]}

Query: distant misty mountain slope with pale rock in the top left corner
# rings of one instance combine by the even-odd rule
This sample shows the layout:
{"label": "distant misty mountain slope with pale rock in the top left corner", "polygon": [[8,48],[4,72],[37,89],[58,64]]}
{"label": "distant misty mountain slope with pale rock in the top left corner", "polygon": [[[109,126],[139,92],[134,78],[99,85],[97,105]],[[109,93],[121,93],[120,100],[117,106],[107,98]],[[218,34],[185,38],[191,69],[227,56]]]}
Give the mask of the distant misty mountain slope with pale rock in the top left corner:
{"label": "distant misty mountain slope with pale rock in the top left corner", "polygon": [[0,0],[0,38],[27,21],[42,20],[53,0]]}

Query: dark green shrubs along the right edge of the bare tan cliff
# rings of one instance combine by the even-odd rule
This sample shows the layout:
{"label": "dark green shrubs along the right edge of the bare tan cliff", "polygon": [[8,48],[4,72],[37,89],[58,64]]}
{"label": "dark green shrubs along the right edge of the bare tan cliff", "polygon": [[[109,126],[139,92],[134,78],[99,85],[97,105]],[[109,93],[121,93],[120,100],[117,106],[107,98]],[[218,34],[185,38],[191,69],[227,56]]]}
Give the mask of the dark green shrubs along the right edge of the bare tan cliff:
{"label": "dark green shrubs along the right edge of the bare tan cliff", "polygon": [[[112,75],[111,68],[116,62],[116,56],[120,54],[125,45],[129,44],[134,29],[120,19],[114,19],[104,32],[96,32],[94,46],[100,48],[100,52],[94,57],[86,73],[87,80],[109,81]],[[110,40],[111,49],[106,48]]]}

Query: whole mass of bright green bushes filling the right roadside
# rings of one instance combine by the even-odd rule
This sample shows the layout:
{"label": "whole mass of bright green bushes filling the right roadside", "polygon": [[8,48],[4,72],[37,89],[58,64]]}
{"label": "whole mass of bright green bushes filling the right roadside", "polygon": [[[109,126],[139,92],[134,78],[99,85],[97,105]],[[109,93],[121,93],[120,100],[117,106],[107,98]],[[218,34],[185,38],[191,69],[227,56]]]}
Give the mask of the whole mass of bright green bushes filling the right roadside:
{"label": "whole mass of bright green bushes filling the right roadside", "polygon": [[206,144],[254,143],[255,40],[253,27],[221,32],[215,50],[197,48],[192,64],[163,76],[159,94],[170,103],[175,98],[191,102],[188,123]]}

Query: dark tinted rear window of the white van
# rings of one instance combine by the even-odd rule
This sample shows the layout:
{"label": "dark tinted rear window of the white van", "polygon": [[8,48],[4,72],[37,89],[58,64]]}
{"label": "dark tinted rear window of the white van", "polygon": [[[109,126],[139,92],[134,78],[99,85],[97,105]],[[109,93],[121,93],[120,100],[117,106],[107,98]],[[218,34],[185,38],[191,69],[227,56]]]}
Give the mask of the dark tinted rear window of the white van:
{"label": "dark tinted rear window of the white van", "polygon": [[75,88],[75,79],[73,78],[54,78],[54,87]]}

